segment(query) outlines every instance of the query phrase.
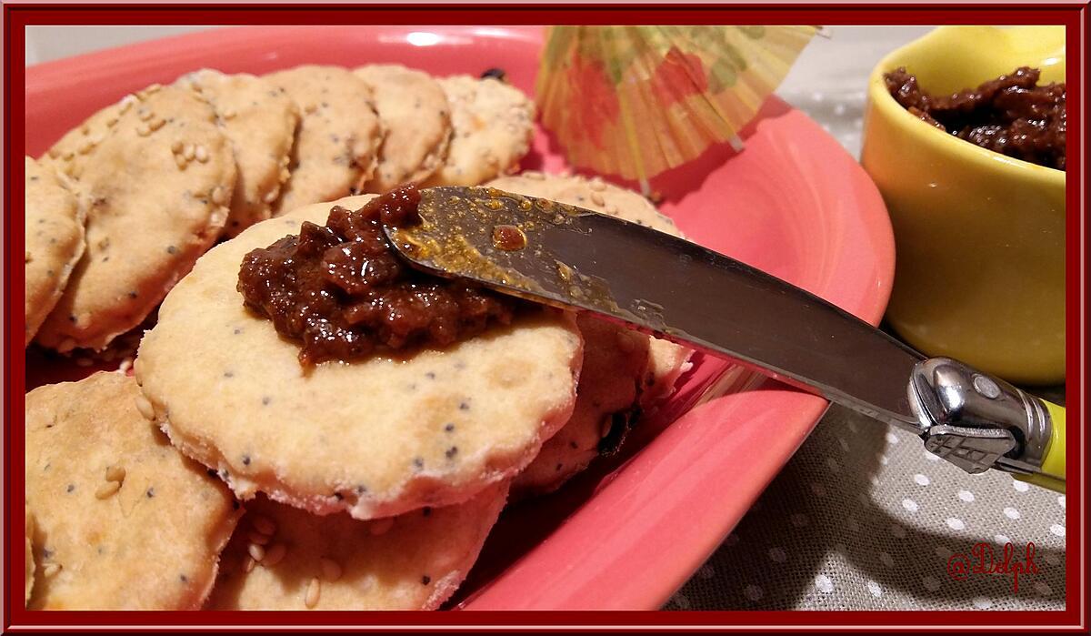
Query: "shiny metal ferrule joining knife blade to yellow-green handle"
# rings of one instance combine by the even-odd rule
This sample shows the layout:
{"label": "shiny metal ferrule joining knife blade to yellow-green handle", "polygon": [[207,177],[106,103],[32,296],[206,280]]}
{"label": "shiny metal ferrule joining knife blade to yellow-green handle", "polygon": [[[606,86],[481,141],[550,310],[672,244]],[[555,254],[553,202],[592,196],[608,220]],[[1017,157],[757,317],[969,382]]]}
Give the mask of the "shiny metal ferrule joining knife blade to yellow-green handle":
{"label": "shiny metal ferrule joining knife blade to yellow-green handle", "polygon": [[970,473],[1043,473],[1056,432],[1041,399],[946,357],[916,365],[909,396],[930,451]]}

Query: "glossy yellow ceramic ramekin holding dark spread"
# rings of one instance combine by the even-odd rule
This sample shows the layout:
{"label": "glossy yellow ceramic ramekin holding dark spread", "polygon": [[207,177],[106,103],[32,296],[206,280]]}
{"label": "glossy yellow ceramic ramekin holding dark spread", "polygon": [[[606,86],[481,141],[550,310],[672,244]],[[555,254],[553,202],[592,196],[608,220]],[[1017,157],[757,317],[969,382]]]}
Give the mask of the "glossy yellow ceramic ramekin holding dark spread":
{"label": "glossy yellow ceramic ramekin holding dark spread", "polygon": [[928,93],[1009,73],[1065,81],[1064,27],[943,26],[888,55],[868,80],[861,163],[894,224],[887,319],[910,344],[1017,384],[1065,377],[1065,173],[979,148],[910,115],[883,74]]}

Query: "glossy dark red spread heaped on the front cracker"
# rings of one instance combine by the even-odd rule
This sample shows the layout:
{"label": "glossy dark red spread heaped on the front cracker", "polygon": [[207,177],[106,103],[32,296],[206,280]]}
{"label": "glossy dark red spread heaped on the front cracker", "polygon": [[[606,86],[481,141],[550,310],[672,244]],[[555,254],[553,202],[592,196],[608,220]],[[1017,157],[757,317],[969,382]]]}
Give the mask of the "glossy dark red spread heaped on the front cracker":
{"label": "glossy dark red spread heaped on the front cracker", "polygon": [[245,305],[302,342],[299,361],[351,361],[410,345],[448,345],[491,322],[511,322],[519,301],[463,280],[419,272],[383,234],[417,219],[420,193],[394,190],[359,210],[334,207],[325,225],[249,252],[239,271]]}

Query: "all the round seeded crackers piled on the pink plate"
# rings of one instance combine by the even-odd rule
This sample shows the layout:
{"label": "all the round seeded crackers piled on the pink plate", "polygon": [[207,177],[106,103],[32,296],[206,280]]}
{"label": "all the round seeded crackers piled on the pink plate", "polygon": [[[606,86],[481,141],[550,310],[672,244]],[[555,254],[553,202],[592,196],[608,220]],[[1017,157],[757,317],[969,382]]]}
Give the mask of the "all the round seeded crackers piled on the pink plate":
{"label": "all the round seeded crackers piled on the pink plate", "polygon": [[140,339],[132,373],[26,396],[27,606],[436,609],[509,497],[613,450],[687,350],[542,309],[304,369],[237,291],[250,250],[408,182],[678,234],[635,192],[514,174],[532,134],[531,102],[495,78],[202,70],[27,157],[27,344]]}

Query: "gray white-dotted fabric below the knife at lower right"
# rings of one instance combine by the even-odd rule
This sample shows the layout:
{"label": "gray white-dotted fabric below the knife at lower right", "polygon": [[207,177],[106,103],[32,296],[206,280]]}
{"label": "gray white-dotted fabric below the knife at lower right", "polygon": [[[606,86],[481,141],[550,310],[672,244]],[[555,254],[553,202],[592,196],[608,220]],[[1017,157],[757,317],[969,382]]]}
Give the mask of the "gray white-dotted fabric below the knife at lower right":
{"label": "gray white-dotted fabric below the knife at lower right", "polygon": [[[1054,397],[1055,398],[1055,397]],[[1038,573],[954,576],[1011,543]],[[981,549],[979,549],[981,550]],[[987,552],[985,553],[987,560]],[[913,435],[832,407],[667,610],[1063,610],[1065,496],[970,475]]]}

